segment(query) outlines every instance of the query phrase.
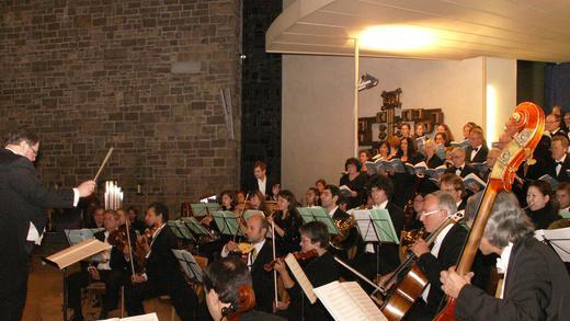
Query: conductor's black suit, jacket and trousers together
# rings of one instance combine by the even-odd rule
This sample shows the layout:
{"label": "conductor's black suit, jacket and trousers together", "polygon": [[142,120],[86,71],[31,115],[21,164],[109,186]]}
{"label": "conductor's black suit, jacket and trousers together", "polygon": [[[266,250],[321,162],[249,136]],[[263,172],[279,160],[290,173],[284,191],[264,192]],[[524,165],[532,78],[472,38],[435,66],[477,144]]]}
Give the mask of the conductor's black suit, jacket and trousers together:
{"label": "conductor's black suit, jacket and trousers together", "polygon": [[39,234],[47,222],[46,207],[73,207],[71,188],[45,188],[33,163],[0,148],[0,320],[20,320],[27,287],[26,237],[30,222]]}

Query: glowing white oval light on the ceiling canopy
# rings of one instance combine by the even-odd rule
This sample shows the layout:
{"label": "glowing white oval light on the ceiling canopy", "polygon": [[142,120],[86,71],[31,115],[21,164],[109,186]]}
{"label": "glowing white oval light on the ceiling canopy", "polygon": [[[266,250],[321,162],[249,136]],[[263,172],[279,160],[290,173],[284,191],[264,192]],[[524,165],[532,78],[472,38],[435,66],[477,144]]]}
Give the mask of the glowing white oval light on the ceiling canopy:
{"label": "glowing white oval light on the ceiling canopy", "polygon": [[435,36],[430,30],[398,25],[368,27],[358,38],[361,48],[388,51],[421,49],[435,42]]}

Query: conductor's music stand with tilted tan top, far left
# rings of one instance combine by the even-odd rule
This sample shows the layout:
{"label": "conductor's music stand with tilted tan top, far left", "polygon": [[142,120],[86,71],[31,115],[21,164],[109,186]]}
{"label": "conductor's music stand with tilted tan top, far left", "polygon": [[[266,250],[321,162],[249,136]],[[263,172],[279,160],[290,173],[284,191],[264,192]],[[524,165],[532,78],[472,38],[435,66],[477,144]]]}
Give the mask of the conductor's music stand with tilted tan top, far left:
{"label": "conductor's music stand with tilted tan top, far left", "polygon": [[94,254],[106,250],[109,250],[109,244],[92,238],[47,257],[42,257],[44,262],[61,271],[64,277],[64,321],[67,321],[67,307],[69,299],[67,296],[67,267],[84,260],[86,257],[93,256]]}

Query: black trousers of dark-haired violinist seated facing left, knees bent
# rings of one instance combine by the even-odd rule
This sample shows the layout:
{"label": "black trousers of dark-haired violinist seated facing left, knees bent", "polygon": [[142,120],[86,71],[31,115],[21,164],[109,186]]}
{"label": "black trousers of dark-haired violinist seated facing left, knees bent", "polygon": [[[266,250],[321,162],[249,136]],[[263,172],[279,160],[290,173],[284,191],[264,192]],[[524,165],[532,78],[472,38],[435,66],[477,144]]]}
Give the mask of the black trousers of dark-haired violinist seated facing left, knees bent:
{"label": "black trousers of dark-haired violinist seated facing left, knees bent", "polygon": [[182,321],[195,320],[196,294],[182,278],[180,282],[158,283],[148,280],[127,286],[125,288],[125,305],[128,316],[145,314],[142,301],[162,295],[170,296],[172,306],[174,306],[174,310]]}

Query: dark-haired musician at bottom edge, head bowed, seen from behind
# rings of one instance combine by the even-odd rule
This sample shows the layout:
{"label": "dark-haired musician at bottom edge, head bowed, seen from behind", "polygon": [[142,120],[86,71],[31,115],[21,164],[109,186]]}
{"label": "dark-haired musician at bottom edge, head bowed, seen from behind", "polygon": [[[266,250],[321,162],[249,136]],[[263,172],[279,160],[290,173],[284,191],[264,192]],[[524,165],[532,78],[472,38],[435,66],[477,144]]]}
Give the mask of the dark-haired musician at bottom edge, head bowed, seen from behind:
{"label": "dark-haired musician at bottom edge, head bowed, seen from behind", "polygon": [[206,305],[214,321],[259,320],[282,318],[254,310],[256,297],[248,266],[237,257],[214,261],[204,274]]}

